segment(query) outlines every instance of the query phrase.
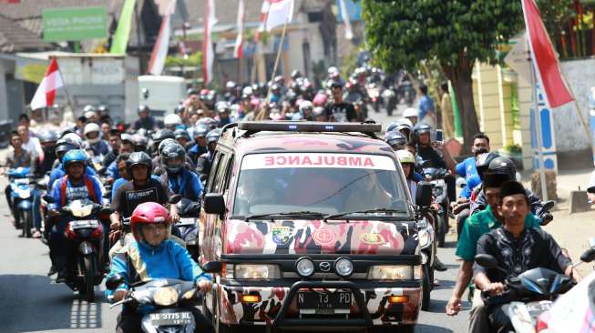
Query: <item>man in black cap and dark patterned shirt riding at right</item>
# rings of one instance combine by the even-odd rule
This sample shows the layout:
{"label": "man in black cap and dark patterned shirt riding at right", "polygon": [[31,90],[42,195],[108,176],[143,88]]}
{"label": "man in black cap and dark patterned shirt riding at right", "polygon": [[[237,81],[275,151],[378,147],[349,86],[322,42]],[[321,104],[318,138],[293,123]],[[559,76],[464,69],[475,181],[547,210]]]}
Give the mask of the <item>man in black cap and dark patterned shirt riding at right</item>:
{"label": "man in black cap and dark patterned shirt riding at right", "polygon": [[[498,267],[504,269],[476,264],[473,268],[477,288],[499,295],[505,289],[506,279],[537,267],[549,268],[579,281],[579,273],[556,240],[540,228],[526,227],[530,207],[525,187],[516,181],[507,181],[500,188],[498,199],[498,214],[504,219],[504,225],[479,238],[477,254],[495,257]],[[514,331],[502,307],[504,305],[492,308],[489,317],[496,328]]]}

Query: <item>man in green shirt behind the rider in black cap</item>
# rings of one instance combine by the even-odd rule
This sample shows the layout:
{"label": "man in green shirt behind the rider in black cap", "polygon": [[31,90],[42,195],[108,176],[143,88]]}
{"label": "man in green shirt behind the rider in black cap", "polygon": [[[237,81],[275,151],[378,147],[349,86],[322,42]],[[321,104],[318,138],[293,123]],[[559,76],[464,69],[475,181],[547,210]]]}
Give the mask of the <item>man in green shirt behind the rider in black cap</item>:
{"label": "man in green shirt behind the rider in black cap", "polygon": [[[453,289],[453,294],[446,304],[446,315],[456,316],[461,309],[461,298],[465,293],[471,278],[473,278],[473,263],[475,261],[477,240],[491,230],[502,226],[504,220],[498,214],[498,201],[500,187],[504,182],[510,180],[507,175],[486,174],[483,180],[484,193],[486,195],[487,207],[483,211],[472,215],[467,219],[463,227],[461,236],[457,244],[457,257],[461,257],[463,262],[457,273],[457,283]],[[540,219],[533,214],[528,214],[525,218],[525,227],[539,227]],[[480,298],[480,293],[476,292],[473,298],[473,305],[469,314],[469,332],[487,332],[489,331],[487,312]]]}

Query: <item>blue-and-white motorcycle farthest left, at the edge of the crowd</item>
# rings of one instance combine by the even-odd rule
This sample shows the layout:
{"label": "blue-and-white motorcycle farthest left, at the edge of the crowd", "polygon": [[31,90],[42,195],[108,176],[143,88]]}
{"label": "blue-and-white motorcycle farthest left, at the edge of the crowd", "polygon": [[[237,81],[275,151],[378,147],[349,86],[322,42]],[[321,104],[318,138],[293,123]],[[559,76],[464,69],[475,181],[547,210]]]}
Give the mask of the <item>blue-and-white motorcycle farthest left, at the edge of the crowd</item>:
{"label": "blue-and-white motorcycle farthest left, at the edge of the crowd", "polygon": [[15,227],[22,230],[22,236],[30,238],[33,228],[33,191],[29,180],[29,168],[17,167],[8,170],[10,193],[13,201]]}

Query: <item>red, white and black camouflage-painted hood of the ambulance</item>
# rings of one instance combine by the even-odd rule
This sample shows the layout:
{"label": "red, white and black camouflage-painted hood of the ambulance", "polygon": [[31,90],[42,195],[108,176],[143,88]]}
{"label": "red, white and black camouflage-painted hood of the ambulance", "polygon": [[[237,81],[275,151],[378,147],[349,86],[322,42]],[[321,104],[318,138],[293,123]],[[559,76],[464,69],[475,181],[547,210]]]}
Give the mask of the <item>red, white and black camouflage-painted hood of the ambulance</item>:
{"label": "red, white and black camouflage-painted hood of the ambulance", "polygon": [[[250,221],[224,224],[226,254],[415,254],[414,224],[350,220]],[[411,236],[413,234],[414,236]]]}

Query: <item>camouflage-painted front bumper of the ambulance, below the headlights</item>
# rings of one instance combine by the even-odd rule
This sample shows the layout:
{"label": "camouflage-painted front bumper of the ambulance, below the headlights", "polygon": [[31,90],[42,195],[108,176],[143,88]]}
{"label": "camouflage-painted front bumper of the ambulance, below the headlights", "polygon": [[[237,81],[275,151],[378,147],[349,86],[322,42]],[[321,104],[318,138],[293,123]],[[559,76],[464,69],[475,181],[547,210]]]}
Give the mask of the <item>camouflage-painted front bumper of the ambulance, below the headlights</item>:
{"label": "camouflage-painted front bumper of the ambulance, below the headlights", "polygon": [[[221,288],[221,322],[227,325],[235,325],[260,321],[266,325],[271,325],[281,309],[282,302],[288,295],[289,289],[223,286]],[[374,325],[416,323],[419,307],[421,306],[420,288],[370,288],[363,289],[362,293]],[[242,295],[260,295],[261,302],[241,303]],[[391,304],[388,302],[390,296],[407,296],[409,301],[404,304]],[[353,301],[350,311],[352,315],[359,315],[360,311],[355,305],[355,301]],[[297,298],[293,298],[287,316],[296,318],[298,313]],[[320,318],[323,318],[323,316],[320,316]]]}

